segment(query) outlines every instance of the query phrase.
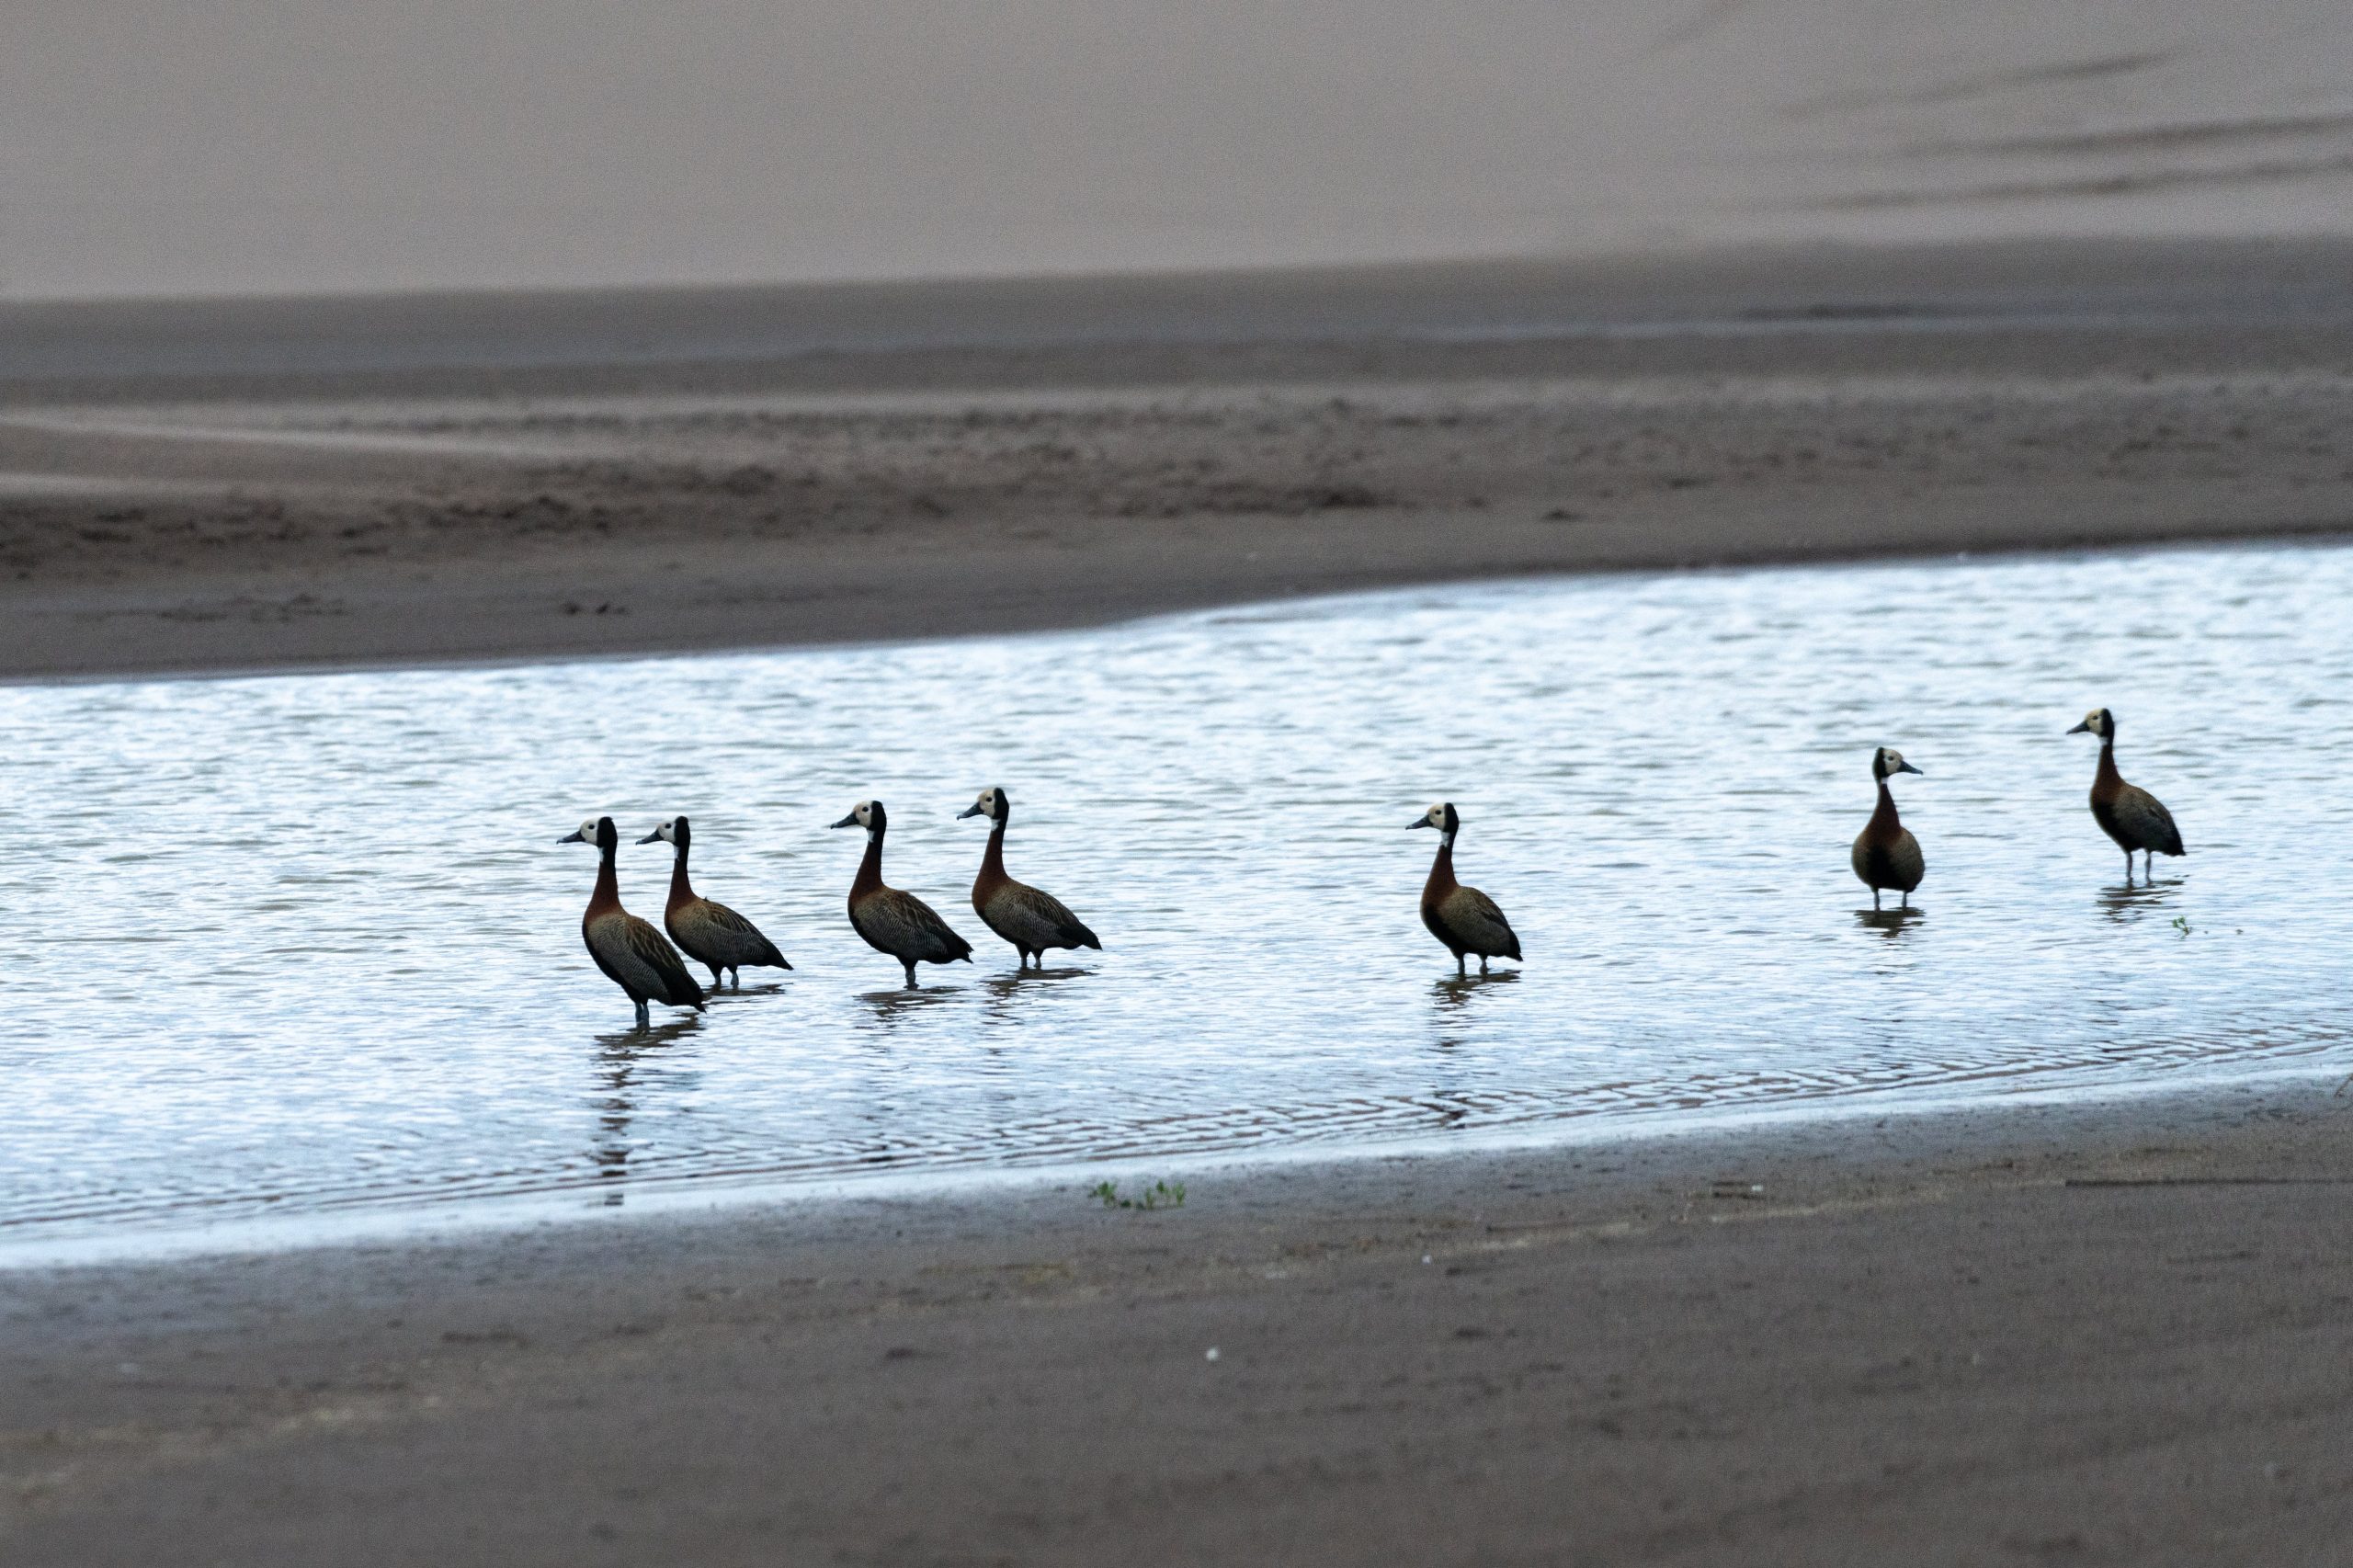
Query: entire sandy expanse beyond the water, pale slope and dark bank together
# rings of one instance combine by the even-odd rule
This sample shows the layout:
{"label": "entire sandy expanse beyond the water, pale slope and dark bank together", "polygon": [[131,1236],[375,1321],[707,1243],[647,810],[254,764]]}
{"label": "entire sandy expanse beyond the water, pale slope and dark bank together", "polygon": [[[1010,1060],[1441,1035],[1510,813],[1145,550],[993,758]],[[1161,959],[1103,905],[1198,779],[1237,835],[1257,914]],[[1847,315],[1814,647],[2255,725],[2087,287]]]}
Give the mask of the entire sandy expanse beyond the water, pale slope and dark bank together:
{"label": "entire sandy expanse beyond the water, pale slope and dark bank together", "polygon": [[2320,0],[19,9],[0,673],[2348,518]]}

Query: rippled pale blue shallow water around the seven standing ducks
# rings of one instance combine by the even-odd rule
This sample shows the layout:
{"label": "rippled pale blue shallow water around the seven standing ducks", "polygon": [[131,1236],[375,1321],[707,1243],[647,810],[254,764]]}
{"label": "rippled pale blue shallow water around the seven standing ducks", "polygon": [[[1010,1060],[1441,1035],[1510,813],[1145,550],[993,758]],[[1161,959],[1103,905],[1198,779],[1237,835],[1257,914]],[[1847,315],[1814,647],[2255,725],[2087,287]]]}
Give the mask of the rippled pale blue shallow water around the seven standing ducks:
{"label": "rippled pale blue shallow water around the seven standing ducks", "polygon": [[[2346,549],[2174,551],[0,690],[0,1248],[2353,1067],[2348,598]],[[2146,890],[2092,704],[2191,848]],[[1927,772],[1915,918],[1847,871],[1882,742]],[[965,902],[984,784],[1108,951],[1014,977]],[[913,994],[842,916],[861,796],[976,946]],[[1433,798],[1522,970],[1421,930]],[[656,918],[668,848],[626,841],[692,815],[795,972],[633,1034],[555,843],[593,812]]]}

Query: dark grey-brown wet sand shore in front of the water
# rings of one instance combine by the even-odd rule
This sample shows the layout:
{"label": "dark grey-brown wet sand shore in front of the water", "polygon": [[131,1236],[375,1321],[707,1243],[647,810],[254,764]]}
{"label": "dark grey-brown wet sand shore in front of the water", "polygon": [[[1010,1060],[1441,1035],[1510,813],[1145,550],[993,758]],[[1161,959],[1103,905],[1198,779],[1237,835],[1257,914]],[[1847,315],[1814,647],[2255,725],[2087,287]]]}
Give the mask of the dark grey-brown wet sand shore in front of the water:
{"label": "dark grey-brown wet sand shore in front of the water", "polygon": [[[0,1274],[9,1563],[2287,1563],[2325,1083]],[[1212,1358],[1209,1351],[1217,1351]]]}

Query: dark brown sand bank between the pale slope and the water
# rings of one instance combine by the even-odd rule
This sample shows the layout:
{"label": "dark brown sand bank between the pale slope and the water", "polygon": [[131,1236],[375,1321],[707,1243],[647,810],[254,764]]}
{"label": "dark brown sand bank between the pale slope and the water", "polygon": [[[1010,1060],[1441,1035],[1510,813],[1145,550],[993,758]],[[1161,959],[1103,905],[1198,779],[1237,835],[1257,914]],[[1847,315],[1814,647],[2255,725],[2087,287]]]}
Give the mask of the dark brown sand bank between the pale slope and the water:
{"label": "dark brown sand bank between the pale slope and the water", "polygon": [[2339,532],[2353,247],[0,311],[0,673]]}

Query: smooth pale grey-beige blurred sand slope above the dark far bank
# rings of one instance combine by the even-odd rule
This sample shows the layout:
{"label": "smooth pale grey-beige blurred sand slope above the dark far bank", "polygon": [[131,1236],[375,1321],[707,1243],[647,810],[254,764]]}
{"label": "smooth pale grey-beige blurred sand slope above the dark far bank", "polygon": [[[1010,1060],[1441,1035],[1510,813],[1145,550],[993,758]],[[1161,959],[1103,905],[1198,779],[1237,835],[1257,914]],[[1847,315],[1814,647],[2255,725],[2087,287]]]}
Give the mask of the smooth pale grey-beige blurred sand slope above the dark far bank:
{"label": "smooth pale grey-beige blurred sand slope above the dark far bank", "polygon": [[2344,233],[2329,0],[14,5],[0,297]]}

